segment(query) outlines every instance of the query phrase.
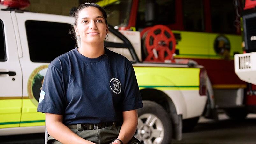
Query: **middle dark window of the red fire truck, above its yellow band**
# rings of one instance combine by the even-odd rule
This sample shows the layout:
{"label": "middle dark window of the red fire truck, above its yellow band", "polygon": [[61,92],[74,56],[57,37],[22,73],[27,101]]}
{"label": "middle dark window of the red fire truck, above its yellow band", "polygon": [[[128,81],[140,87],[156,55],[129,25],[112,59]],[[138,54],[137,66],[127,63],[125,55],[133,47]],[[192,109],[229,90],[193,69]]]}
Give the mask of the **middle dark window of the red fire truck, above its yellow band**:
{"label": "middle dark window of the red fire truck, above its yellow band", "polygon": [[204,31],[204,8],[202,0],[183,0],[183,24],[186,31]]}

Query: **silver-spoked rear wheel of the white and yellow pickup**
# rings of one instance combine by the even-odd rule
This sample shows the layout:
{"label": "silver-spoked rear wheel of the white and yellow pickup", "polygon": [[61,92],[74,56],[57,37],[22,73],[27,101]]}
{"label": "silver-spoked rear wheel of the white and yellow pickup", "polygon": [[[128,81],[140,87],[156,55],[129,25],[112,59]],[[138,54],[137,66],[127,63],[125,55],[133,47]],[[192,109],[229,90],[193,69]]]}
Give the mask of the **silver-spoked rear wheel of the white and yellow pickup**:
{"label": "silver-spoked rear wheel of the white and yellow pickup", "polygon": [[171,143],[172,122],[165,109],[153,101],[143,101],[138,109],[138,128],[135,137],[144,144]]}

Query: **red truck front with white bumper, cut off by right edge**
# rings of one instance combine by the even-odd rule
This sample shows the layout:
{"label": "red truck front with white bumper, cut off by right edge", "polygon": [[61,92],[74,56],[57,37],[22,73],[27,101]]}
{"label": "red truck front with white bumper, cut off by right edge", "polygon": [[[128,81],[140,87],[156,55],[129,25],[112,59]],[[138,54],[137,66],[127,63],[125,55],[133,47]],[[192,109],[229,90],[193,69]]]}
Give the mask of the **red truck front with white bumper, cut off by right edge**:
{"label": "red truck front with white bumper, cut off by right edge", "polygon": [[245,0],[242,13],[244,54],[235,55],[235,72],[238,77],[247,82],[245,95],[246,111],[256,113],[256,1]]}

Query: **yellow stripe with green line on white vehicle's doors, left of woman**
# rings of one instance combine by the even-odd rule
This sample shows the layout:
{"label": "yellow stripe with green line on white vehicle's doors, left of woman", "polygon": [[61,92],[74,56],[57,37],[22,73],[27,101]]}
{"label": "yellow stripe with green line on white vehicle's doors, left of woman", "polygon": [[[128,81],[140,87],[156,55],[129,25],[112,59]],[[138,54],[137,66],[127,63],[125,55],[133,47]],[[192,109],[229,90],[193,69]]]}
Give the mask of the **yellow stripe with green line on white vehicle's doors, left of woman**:
{"label": "yellow stripe with green line on white vehicle's doors, left of woman", "polygon": [[2,98],[4,99],[0,100],[0,128],[45,125],[45,114],[37,112],[37,107],[29,97]]}

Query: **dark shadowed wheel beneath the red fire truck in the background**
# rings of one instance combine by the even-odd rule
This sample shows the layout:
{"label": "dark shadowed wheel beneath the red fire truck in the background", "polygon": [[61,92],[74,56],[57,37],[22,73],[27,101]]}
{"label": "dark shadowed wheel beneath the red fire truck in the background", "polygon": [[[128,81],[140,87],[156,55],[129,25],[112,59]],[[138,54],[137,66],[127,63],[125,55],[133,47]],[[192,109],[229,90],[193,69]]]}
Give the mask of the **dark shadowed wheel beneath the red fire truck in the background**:
{"label": "dark shadowed wheel beneath the red fire truck in the background", "polygon": [[227,109],[225,110],[226,114],[231,118],[231,119],[245,119],[248,112],[244,108],[232,108],[232,109]]}

